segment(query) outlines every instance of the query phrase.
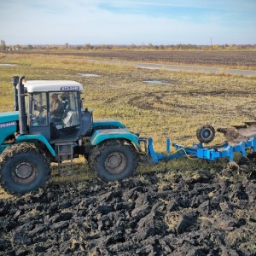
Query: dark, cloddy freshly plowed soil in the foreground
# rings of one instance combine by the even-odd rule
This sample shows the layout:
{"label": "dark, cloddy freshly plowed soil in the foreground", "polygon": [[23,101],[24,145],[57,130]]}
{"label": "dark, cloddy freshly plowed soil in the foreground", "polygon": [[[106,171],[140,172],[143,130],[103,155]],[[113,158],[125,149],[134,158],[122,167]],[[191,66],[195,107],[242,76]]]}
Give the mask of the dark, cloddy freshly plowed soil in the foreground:
{"label": "dark, cloddy freshly plowed soil in the foreground", "polygon": [[241,169],[52,183],[0,201],[0,255],[256,255],[256,171]]}

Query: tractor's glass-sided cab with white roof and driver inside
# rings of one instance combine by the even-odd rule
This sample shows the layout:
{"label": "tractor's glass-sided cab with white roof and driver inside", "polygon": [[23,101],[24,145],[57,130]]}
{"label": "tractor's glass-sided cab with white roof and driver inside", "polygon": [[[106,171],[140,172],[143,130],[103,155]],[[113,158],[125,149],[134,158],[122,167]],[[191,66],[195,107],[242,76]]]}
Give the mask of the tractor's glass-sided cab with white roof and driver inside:
{"label": "tractor's glass-sided cab with white roof and driver inside", "polygon": [[74,81],[37,80],[24,83],[29,134],[42,134],[49,141],[79,139],[90,129],[91,113],[82,110],[80,90]]}

